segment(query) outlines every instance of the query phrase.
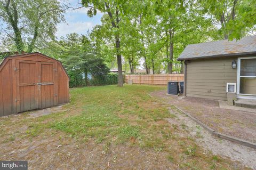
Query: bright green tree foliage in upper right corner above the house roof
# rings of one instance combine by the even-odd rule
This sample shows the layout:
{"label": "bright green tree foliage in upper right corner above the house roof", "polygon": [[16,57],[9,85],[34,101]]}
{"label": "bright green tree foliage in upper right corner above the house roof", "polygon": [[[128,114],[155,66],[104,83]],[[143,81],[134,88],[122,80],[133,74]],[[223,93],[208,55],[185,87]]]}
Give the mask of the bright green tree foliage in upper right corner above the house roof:
{"label": "bright green tree foliage in upper right corner above the house roof", "polygon": [[200,0],[202,9],[220,25],[222,39],[239,39],[256,25],[256,3],[254,0]]}

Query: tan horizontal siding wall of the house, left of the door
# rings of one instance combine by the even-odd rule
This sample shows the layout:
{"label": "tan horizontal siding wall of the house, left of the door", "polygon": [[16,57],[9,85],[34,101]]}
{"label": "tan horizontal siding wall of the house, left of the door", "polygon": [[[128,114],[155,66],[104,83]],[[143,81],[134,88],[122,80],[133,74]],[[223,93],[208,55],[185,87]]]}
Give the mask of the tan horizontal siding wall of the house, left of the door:
{"label": "tan horizontal siding wall of the house, left of the door", "polygon": [[187,96],[227,100],[227,83],[237,82],[237,69],[231,68],[233,60],[203,59],[187,63]]}

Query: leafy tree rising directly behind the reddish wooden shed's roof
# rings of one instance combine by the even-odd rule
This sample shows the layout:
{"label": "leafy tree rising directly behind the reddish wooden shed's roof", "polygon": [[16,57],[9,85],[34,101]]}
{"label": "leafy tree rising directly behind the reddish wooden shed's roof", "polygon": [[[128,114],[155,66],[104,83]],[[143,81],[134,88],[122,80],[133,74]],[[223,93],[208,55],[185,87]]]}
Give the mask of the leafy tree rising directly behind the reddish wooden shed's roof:
{"label": "leafy tree rising directly behind the reddish wooden shed's roof", "polygon": [[[33,52],[36,45],[55,38],[57,24],[64,21],[65,5],[57,0],[5,0],[0,2],[2,30],[16,50]],[[42,46],[40,44],[40,46]]]}

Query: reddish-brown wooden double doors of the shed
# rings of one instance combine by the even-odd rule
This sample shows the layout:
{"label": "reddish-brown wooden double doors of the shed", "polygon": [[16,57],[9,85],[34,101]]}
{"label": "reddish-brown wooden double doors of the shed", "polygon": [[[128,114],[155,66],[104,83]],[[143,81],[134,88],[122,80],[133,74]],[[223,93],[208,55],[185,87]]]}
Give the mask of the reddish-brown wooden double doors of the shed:
{"label": "reddish-brown wooden double doors of the shed", "polygon": [[17,112],[56,106],[55,63],[17,60]]}

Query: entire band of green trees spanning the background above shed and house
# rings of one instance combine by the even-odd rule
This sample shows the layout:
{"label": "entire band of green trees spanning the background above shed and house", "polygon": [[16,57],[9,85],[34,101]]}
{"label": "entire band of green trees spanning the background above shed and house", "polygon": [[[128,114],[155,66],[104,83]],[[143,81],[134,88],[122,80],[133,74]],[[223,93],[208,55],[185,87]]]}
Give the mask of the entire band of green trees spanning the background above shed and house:
{"label": "entire band of green trees spanning the background above shed and house", "polygon": [[85,75],[118,68],[122,86],[123,70],[180,73],[183,64],[177,58],[188,44],[239,39],[256,31],[254,0],[82,0],[79,4],[78,8],[88,9],[89,17],[103,13],[101,24],[83,35],[56,40],[56,25],[65,21],[67,5],[57,0],[0,1],[0,25],[5,26],[1,50],[40,51]]}

